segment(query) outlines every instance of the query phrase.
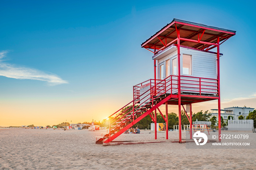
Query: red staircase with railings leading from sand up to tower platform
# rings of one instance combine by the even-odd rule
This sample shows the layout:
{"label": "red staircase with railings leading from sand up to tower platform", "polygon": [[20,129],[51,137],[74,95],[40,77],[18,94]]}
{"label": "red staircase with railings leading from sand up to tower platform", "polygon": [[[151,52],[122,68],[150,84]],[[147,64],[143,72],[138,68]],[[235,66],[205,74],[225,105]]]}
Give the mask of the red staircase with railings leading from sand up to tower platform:
{"label": "red staircase with railings leading from sand up to tower platform", "polygon": [[[140,94],[139,88],[144,84],[149,85],[150,88]],[[173,87],[172,85],[176,85],[176,87]],[[113,141],[116,137],[124,133],[127,129],[131,128],[147,115],[150,115],[154,120],[151,113],[172,98],[172,94],[167,94],[166,92],[169,90],[172,91],[173,89],[177,89],[177,79],[173,80],[172,76],[169,76],[164,80],[155,81],[154,79],[150,79],[133,86],[133,101],[129,102],[127,105],[108,117],[110,130],[108,133],[105,133],[105,135],[97,136],[96,144],[102,144],[103,142],[109,143]],[[124,110],[124,108],[129,105],[131,106]],[[120,112],[120,110],[124,111]],[[130,111],[127,113],[128,110]]]}

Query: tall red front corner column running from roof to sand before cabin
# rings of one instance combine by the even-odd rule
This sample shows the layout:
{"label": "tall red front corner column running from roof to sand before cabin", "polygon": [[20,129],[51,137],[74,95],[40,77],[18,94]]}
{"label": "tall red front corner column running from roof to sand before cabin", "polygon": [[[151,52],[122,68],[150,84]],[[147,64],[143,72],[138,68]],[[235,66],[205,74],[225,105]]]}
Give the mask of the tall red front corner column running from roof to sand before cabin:
{"label": "tall red front corner column running from roof to sand before cabin", "polygon": [[178,56],[177,56],[177,72],[178,72],[178,118],[179,118],[179,142],[181,143],[181,96],[180,96],[180,30],[176,28],[178,35]]}

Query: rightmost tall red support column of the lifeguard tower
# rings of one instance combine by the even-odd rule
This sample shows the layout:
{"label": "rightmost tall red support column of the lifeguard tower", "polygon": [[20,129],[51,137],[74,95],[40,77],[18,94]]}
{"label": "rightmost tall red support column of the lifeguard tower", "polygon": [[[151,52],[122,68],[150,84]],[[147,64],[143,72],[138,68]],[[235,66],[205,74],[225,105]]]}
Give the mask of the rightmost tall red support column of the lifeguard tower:
{"label": "rightmost tall red support column of the lifeguard tower", "polygon": [[221,93],[220,93],[220,84],[219,84],[219,80],[220,80],[220,77],[219,77],[219,37],[217,39],[217,65],[218,65],[218,94],[219,94],[219,99],[218,99],[218,125],[219,125],[219,141],[221,141]]}

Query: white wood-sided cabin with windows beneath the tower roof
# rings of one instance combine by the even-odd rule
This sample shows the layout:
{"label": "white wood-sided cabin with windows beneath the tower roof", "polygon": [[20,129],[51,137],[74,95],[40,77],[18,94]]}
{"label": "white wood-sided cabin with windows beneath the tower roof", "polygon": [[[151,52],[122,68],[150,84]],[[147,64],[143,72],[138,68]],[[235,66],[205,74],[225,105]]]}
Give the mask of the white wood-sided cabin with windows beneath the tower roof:
{"label": "white wood-sided cabin with windows beneath the tower roof", "polygon": [[[153,60],[157,60],[157,79],[164,80],[170,76],[168,80],[172,79],[172,90],[167,93],[172,94],[178,91],[174,85],[178,84],[177,53],[177,46],[172,45],[153,56]],[[185,47],[180,47],[180,53],[181,93],[218,95],[217,53]]]}

